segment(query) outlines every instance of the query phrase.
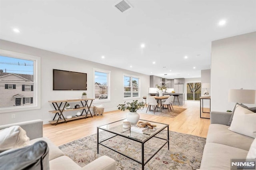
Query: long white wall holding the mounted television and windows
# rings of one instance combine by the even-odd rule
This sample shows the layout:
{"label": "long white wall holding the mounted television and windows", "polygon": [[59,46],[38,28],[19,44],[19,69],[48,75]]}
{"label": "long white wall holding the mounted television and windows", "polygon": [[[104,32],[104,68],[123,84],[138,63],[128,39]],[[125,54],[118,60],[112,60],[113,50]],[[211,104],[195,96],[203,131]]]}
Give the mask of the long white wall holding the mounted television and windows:
{"label": "long white wall holding the mounted television and windows", "polygon": [[[124,69],[119,69],[116,67],[110,67],[108,65],[103,65],[99,63],[94,63],[91,61],[86,61],[67,55],[62,55],[58,53],[53,53],[50,51],[45,51],[42,49],[37,49],[34,47],[28,47],[26,45],[20,45],[17,43],[7,42],[0,40],[0,49],[14,51],[18,53],[25,53],[29,55],[35,55],[41,57],[41,109],[31,110],[31,111],[18,111],[14,112],[16,114],[16,119],[11,119],[11,114],[14,113],[0,113],[0,125],[8,123],[16,123],[21,121],[28,121],[34,119],[42,119],[44,123],[48,123],[53,119],[54,114],[48,111],[54,110],[51,100],[62,100],[62,99],[73,99],[80,98],[82,95],[81,91],[53,91],[52,90],[52,69],[61,69],[68,71],[77,71],[82,73],[87,73],[87,97],[93,98],[93,68],[100,68],[111,71],[111,102],[97,103],[97,105],[103,104],[105,111],[117,110],[117,105],[124,103],[123,100],[123,75],[135,75],[140,77],[140,96],[148,95],[148,88],[150,85],[150,76],[133,71],[128,71]],[[86,50],[86,49],[85,49]],[[83,91],[84,92],[84,91]],[[139,99],[142,101],[142,99]],[[76,115],[72,111],[65,112],[66,115]]]}

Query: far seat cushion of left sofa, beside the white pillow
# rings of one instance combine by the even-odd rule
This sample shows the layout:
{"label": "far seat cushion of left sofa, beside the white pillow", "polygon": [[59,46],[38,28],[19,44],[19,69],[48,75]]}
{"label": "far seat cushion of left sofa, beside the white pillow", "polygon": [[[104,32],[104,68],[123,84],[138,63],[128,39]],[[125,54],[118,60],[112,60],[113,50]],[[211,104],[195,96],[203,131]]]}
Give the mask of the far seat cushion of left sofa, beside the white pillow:
{"label": "far seat cushion of left sofa, beside the white pillow", "polygon": [[30,140],[30,143],[33,144],[38,140],[44,140],[45,142],[47,142],[49,147],[49,160],[58,158],[60,156],[64,156],[64,153],[56,145],[54,145],[48,138],[45,138],[45,137],[36,138],[36,139]]}

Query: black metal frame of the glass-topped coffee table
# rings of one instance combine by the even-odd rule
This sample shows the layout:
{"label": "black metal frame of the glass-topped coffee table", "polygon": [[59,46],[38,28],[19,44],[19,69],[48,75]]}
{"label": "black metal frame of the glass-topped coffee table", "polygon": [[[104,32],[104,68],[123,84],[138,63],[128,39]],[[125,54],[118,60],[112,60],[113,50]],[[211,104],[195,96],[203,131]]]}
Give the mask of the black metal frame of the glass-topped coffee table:
{"label": "black metal frame of the glass-topped coffee table", "polygon": [[[123,120],[125,120],[125,119],[120,120],[120,122],[123,121]],[[146,121],[146,120],[141,120],[141,119],[140,119],[140,121]],[[119,121],[115,121],[115,122],[112,122],[112,123],[116,123],[116,122],[119,122]],[[151,123],[152,121],[148,121],[148,122]],[[109,123],[109,124],[112,124],[112,123]],[[158,122],[152,122],[152,123],[158,123]],[[106,124],[106,125],[109,125],[109,124]],[[139,140],[139,139],[136,139],[136,138],[132,138],[132,137],[130,137],[130,136],[126,136],[126,135],[124,135],[124,134],[122,134],[122,133],[118,133],[118,132],[114,132],[114,131],[112,131],[112,130],[107,130],[107,129],[105,129],[105,128],[101,128],[102,126],[105,126],[105,125],[102,125],[102,126],[100,126],[100,127],[97,127],[97,153],[99,154],[99,144],[100,144],[100,145],[102,145],[102,146],[105,146],[106,148],[109,148],[109,149],[113,150],[114,152],[117,152],[117,153],[119,153],[119,154],[121,154],[121,155],[123,155],[123,156],[126,156],[127,158],[130,158],[131,160],[134,160],[135,162],[138,162],[139,164],[142,165],[142,170],[144,170],[144,166],[148,163],[148,161],[150,161],[150,160],[158,153],[158,151],[164,147],[164,145],[165,145],[166,143],[168,143],[168,150],[169,150],[169,125],[168,125],[168,124],[163,124],[163,123],[158,123],[158,124],[162,124],[162,125],[164,125],[164,127],[160,128],[156,133],[150,134],[149,137],[146,138],[146,140],[144,140],[144,141]],[[167,139],[157,137],[156,134],[158,134],[159,132],[161,132],[162,130],[164,130],[166,127],[167,127],[167,135],[168,135],[168,136],[167,136]],[[117,150],[114,150],[113,148],[110,148],[110,147],[106,146],[105,144],[102,144],[102,142],[104,142],[104,141],[106,141],[106,140],[108,140],[108,139],[111,139],[111,138],[113,138],[113,137],[115,137],[115,136],[112,136],[112,137],[107,138],[107,139],[105,139],[105,140],[99,141],[99,129],[104,130],[104,131],[107,131],[107,132],[110,132],[110,133],[113,133],[113,134],[116,134],[115,136],[122,136],[122,137],[124,137],[124,138],[128,138],[128,139],[130,139],[130,140],[134,140],[134,141],[136,141],[136,142],[139,142],[139,143],[141,144],[141,151],[142,151],[142,153],[141,153],[141,161],[140,161],[140,160],[136,160],[136,159],[134,159],[134,158],[132,158],[132,157],[126,155],[126,154],[123,154],[122,152],[119,152],[119,151],[117,151]],[[130,130],[130,128],[128,128],[128,130]],[[128,130],[126,130],[126,131],[128,131]],[[126,132],[126,131],[125,131],[125,132]],[[164,144],[162,144],[162,146],[161,146],[150,158],[148,158],[148,160],[144,161],[144,144],[145,144],[148,140],[150,140],[151,138],[153,138],[153,137],[159,138],[159,139],[162,139],[162,140],[166,140],[166,142],[164,142]]]}

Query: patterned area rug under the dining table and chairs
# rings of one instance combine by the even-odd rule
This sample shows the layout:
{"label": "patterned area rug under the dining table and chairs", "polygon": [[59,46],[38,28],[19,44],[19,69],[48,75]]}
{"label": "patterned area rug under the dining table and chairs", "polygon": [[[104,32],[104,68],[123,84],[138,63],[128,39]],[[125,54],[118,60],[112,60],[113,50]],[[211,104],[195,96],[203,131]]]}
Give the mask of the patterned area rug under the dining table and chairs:
{"label": "patterned area rug under the dining table and chairs", "polygon": [[[168,112],[168,109],[162,109],[162,112],[159,112],[159,108],[158,108],[158,112],[155,111],[155,114],[154,114],[153,110],[147,111],[147,109],[145,107],[143,110],[138,110],[137,113],[144,113],[144,114],[149,114],[149,115],[158,115],[158,116],[174,118],[185,110],[186,110],[185,108],[173,107],[172,111],[170,111],[170,109],[169,109],[170,112]],[[147,111],[147,113],[146,113],[146,111]]]}

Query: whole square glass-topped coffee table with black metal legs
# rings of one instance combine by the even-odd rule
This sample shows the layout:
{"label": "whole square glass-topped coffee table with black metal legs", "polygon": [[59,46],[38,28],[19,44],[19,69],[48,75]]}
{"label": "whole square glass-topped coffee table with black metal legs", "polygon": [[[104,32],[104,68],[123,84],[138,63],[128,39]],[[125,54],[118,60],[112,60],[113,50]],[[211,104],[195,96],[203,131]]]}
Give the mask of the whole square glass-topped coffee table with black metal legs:
{"label": "whole square glass-topped coffee table with black metal legs", "polygon": [[[100,144],[100,145],[105,146],[119,154],[122,154],[123,156],[126,156],[127,158],[130,158],[131,160],[138,162],[139,164],[142,165],[142,170],[144,170],[145,164],[148,163],[148,161],[151,158],[153,158],[157,154],[157,152],[161,148],[164,147],[164,145],[166,143],[168,143],[168,150],[169,150],[169,125],[168,124],[157,123],[157,122],[146,121],[146,120],[139,120],[139,121],[143,121],[143,122],[148,122],[152,125],[156,125],[156,127],[154,127],[153,129],[148,129],[144,133],[139,133],[139,132],[131,131],[130,128],[123,128],[122,125],[123,125],[124,121],[126,121],[126,119],[97,127],[97,153],[99,153],[99,144]],[[165,128],[167,128],[167,136],[166,136],[167,138],[162,138],[162,137],[156,136],[159,132],[161,132]],[[114,134],[114,136],[108,137],[107,139],[100,141],[99,140],[99,130],[110,132],[110,133]],[[141,160],[136,160],[135,158],[132,158],[131,156],[129,156],[127,154],[124,154],[114,148],[111,148],[110,146],[107,146],[105,141],[107,141],[111,138],[114,138],[115,136],[122,136],[124,138],[127,138],[128,140],[133,140],[133,141],[139,142],[141,144]],[[148,158],[147,160],[144,160],[144,144],[152,138],[156,138],[156,139],[164,140],[164,141],[162,142],[162,145],[159,145],[160,147],[155,151],[155,153],[150,154],[151,155],[150,158]],[[103,142],[105,142],[105,143],[103,143]]]}

